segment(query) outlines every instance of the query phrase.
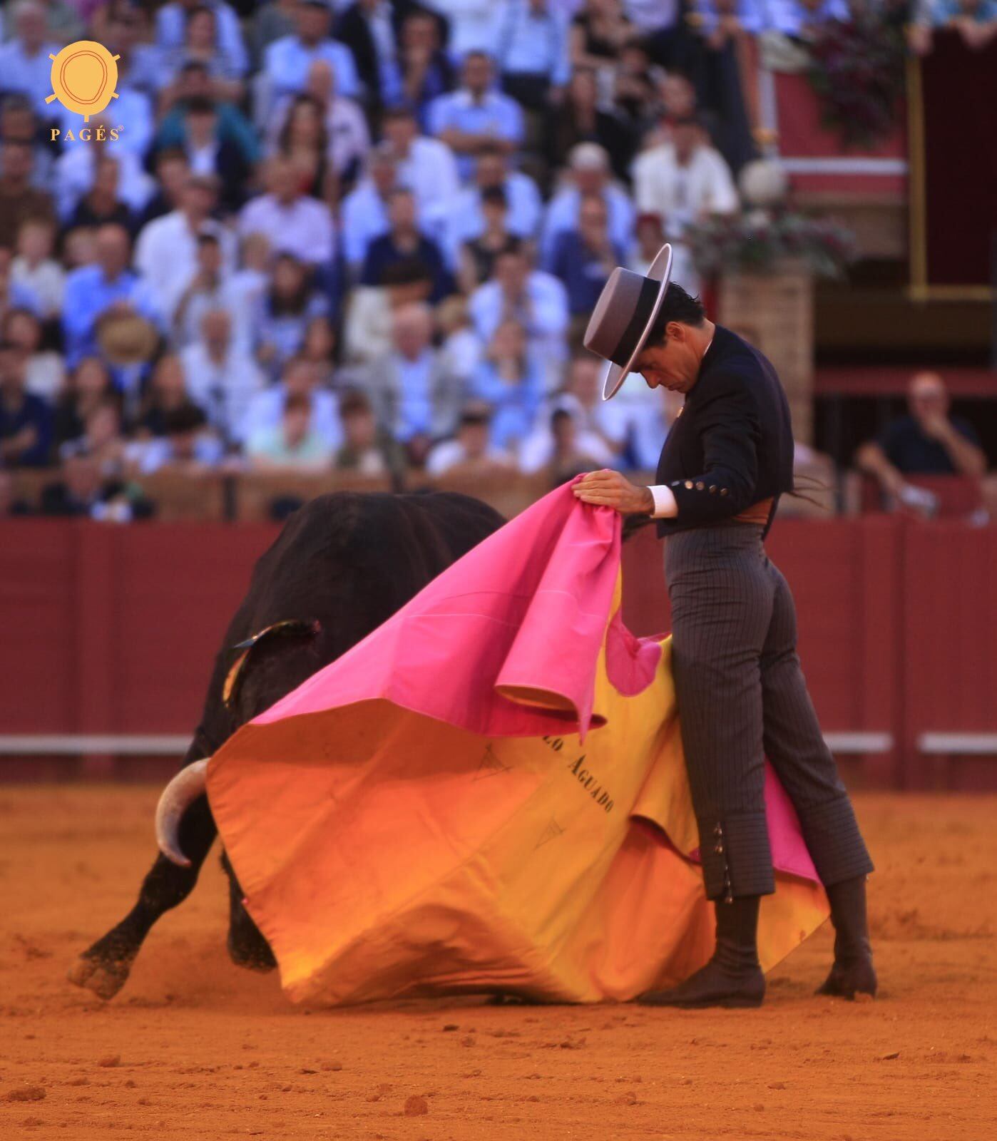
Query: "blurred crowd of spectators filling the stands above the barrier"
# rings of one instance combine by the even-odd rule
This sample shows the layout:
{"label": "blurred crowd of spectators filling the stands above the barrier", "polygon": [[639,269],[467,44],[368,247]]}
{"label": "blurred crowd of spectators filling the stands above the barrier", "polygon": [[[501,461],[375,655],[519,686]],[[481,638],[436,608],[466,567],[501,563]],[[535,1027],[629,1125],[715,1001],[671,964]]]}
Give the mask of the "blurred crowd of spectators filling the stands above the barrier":
{"label": "blurred crowd of spectators filling the stands above the barrier", "polygon": [[[674,408],[633,379],[600,402],[587,315],[664,240],[698,289],[683,229],[739,210],[755,154],[743,38],[848,18],[845,0],[6,6],[0,468],[58,469],[46,510],[116,518],[165,468],[654,467]],[[982,41],[997,5],[902,18]],[[119,71],[87,131],[50,98],[50,55],[81,38]]]}

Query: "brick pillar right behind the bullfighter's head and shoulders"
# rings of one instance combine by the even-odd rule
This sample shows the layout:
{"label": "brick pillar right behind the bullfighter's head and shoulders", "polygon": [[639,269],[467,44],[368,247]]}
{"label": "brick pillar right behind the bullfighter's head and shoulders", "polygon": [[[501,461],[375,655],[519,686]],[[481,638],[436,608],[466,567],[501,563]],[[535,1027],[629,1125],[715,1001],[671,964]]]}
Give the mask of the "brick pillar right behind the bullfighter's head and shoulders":
{"label": "brick pillar right behind the bullfighter's head and shoulders", "polygon": [[793,413],[793,435],[813,443],[813,277],[797,262],[772,273],[726,273],[719,321],[772,362]]}

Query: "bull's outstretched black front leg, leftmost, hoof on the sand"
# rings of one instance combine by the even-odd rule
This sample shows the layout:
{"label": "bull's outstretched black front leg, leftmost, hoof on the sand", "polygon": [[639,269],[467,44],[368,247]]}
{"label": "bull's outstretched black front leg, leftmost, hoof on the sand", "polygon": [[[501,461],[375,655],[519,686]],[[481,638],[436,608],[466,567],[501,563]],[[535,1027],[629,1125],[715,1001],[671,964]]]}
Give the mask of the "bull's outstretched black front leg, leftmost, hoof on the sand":
{"label": "bull's outstretched black front leg, leftmost, hoof on the sand", "polygon": [[197,873],[217,834],[208,798],[198,796],[180,822],[180,844],[191,860],[178,867],[159,856],[141,884],[138,903],[125,917],[88,947],[70,968],[70,981],[100,998],[113,998],[124,986],[143,940],[156,920],[194,890]]}

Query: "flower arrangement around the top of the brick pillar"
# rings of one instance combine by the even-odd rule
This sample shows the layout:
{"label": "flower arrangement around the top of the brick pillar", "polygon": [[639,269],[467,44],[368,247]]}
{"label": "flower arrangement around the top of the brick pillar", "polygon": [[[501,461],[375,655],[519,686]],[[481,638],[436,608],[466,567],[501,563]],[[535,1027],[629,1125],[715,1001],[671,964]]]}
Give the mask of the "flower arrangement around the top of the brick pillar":
{"label": "flower arrangement around the top of the brick pillar", "polygon": [[687,227],[682,241],[704,277],[771,273],[786,260],[803,261],[818,277],[842,277],[856,257],[850,229],[789,210],[714,215]]}

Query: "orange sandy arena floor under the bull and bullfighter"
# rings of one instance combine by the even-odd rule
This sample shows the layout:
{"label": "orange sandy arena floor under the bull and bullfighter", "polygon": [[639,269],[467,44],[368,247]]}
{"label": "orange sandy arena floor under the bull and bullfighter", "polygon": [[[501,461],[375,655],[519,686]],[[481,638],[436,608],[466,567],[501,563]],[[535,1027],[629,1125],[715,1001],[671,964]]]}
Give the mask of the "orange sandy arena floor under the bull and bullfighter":
{"label": "orange sandy arena floor under the bull and bullfighter", "polygon": [[[224,940],[212,856],[107,1004],[65,980],[152,860],[151,787],[0,787],[0,1138],[984,1141],[997,1130],[997,798],[858,801],[882,997],[761,1011],[292,1008]],[[24,1100],[31,1099],[31,1100]]]}

